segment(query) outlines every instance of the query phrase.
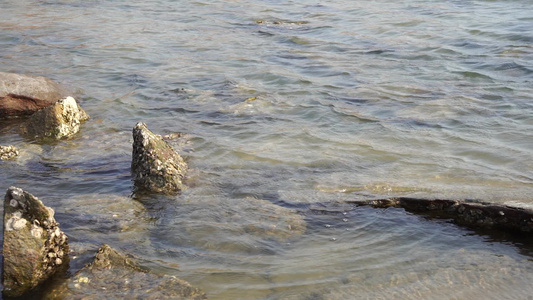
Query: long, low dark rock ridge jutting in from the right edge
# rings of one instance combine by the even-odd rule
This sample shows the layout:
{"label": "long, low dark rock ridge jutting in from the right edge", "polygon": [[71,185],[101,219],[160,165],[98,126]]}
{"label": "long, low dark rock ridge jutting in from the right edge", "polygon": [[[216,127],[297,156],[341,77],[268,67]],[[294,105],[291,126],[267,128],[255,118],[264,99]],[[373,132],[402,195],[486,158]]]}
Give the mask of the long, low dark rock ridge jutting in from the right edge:
{"label": "long, low dark rock ridge jutting in from the right edge", "polygon": [[374,207],[401,207],[409,212],[451,218],[458,224],[472,227],[533,232],[533,206],[407,197],[353,203]]}

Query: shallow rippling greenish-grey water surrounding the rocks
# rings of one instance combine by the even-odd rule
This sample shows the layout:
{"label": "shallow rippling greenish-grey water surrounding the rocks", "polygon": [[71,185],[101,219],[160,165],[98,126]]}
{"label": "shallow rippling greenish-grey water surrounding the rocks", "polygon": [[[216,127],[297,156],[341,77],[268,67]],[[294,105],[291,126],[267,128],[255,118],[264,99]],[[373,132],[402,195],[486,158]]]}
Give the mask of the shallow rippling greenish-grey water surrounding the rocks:
{"label": "shallow rippling greenish-grey water surrounding the rocks", "polygon": [[[1,189],[213,299],[526,299],[530,248],[392,196],[533,203],[533,18],[516,1],[2,1],[0,70],[92,119],[40,145],[2,122]],[[131,129],[185,132],[177,197],[131,197]],[[319,209],[316,208],[319,207]],[[336,208],[336,209],[333,209]],[[530,237],[529,237],[530,239]]]}

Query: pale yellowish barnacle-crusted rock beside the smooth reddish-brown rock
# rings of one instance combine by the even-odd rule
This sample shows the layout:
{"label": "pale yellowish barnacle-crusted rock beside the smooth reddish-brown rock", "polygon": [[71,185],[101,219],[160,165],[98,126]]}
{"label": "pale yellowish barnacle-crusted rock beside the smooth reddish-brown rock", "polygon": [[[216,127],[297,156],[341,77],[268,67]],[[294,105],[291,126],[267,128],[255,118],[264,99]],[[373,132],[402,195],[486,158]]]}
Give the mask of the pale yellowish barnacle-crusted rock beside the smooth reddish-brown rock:
{"label": "pale yellowish barnacle-crusted rock beside the smooth reddish-brown rock", "polygon": [[34,137],[61,139],[80,130],[81,122],[89,116],[72,97],[57,101],[54,105],[34,113],[23,133]]}

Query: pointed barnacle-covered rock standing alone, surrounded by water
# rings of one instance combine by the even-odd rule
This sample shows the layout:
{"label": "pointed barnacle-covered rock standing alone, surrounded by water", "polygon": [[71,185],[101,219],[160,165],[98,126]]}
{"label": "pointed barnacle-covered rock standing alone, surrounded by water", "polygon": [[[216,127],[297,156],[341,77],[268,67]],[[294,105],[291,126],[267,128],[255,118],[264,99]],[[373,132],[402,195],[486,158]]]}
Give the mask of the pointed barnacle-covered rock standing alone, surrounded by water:
{"label": "pointed barnacle-covered rock standing alone, surrounded by water", "polygon": [[174,194],[185,189],[187,164],[160,135],[144,123],[133,128],[131,173],[138,189]]}

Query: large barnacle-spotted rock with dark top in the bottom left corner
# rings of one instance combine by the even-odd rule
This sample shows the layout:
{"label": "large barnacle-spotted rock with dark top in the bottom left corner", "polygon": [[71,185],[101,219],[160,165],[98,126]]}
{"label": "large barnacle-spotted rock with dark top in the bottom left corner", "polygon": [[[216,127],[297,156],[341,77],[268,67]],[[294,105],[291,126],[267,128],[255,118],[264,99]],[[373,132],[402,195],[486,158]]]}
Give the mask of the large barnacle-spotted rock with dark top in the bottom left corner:
{"label": "large barnacle-spotted rock with dark top in the bottom left corner", "polygon": [[20,188],[4,199],[4,295],[18,297],[68,265],[68,238],[54,210]]}

